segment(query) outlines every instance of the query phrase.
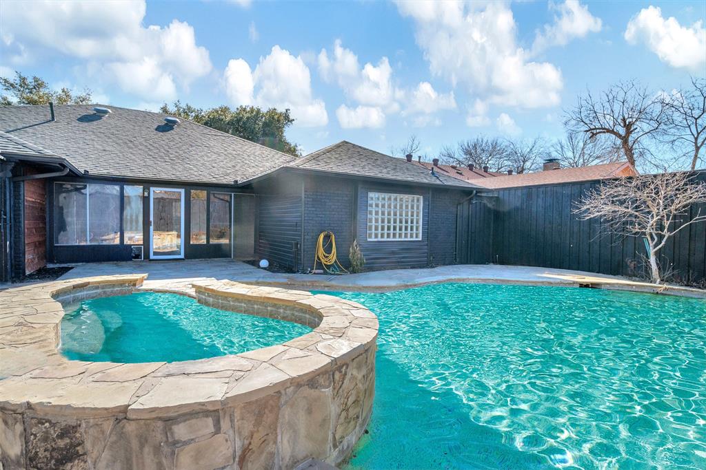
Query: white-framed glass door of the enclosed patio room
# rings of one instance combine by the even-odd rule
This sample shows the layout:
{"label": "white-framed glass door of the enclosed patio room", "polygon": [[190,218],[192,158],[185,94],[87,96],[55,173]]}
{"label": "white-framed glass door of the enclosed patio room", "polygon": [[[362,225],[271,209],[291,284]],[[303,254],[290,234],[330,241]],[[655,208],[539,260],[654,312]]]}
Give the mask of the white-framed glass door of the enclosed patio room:
{"label": "white-framed glass door of the enclosed patio room", "polygon": [[150,258],[184,258],[184,190],[150,190]]}

